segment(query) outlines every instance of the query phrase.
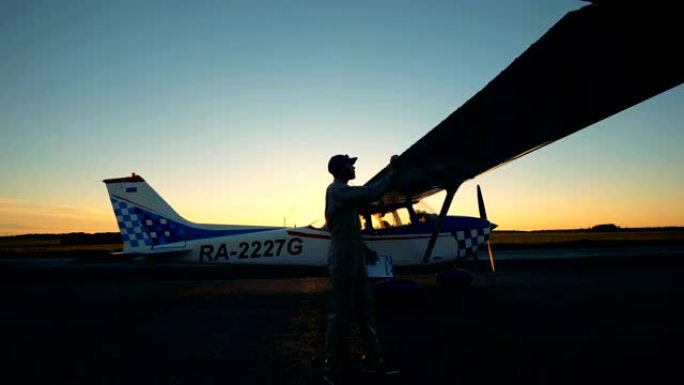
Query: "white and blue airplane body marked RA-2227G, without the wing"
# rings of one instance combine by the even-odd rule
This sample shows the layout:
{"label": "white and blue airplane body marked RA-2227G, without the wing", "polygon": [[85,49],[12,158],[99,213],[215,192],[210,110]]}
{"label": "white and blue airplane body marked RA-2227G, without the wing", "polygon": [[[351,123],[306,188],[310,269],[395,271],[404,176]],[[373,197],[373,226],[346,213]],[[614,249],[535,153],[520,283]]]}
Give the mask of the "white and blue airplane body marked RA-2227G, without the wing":
{"label": "white and blue airplane body marked RA-2227G, without the wing", "polygon": [[[295,228],[196,224],[179,215],[140,175],[104,183],[124,254],[171,255],[182,263],[327,266],[331,237],[324,223]],[[482,202],[479,191],[478,196]],[[453,264],[473,258],[496,226],[487,220],[483,203],[482,218],[447,216],[426,255],[426,242],[439,218],[420,203],[405,201],[361,211],[366,245],[380,256],[391,256],[382,261],[388,265],[378,267],[387,273],[378,277],[391,276],[394,266]]]}

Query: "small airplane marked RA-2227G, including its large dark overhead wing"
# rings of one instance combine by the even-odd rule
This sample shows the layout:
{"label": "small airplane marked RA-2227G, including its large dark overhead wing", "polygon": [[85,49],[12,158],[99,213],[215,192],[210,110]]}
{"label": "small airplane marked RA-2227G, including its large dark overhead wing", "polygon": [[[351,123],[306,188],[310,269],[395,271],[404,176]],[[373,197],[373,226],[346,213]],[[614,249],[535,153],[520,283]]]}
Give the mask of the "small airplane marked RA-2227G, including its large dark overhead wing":
{"label": "small airplane marked RA-2227G, including its large dark overhead wing", "polygon": [[[569,12],[399,155],[390,189],[359,210],[369,248],[392,257],[385,268],[450,266],[476,257],[495,225],[479,188],[480,218],[446,215],[464,181],[680,85],[678,14],[667,2],[631,1],[592,1]],[[648,28],[637,27],[643,25]],[[167,254],[200,264],[326,265],[330,235],[322,226],[198,225],[139,175],[104,182],[124,254]],[[439,214],[418,208],[442,190]],[[491,249],[490,263],[494,270]]]}

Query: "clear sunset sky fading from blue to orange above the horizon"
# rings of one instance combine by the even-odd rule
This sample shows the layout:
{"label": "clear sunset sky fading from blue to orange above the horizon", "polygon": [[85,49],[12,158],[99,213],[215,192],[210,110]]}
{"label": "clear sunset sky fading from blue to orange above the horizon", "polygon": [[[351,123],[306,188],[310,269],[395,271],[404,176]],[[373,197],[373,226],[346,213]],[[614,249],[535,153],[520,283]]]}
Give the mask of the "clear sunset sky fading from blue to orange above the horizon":
{"label": "clear sunset sky fading from blue to orange above the horizon", "polygon": [[[331,155],[362,185],[586,4],[2,1],[0,235],[117,231],[102,179],[131,172],[193,222],[306,225]],[[481,175],[450,214],[480,184],[501,229],[684,226],[683,107],[680,85]]]}

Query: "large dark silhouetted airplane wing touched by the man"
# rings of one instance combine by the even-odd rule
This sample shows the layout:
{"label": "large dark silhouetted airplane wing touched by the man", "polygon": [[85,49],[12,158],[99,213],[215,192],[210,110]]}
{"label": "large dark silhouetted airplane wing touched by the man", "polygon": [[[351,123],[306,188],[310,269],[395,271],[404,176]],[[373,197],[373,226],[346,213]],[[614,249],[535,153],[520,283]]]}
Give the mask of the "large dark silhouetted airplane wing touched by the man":
{"label": "large dark silhouetted airplane wing touched by the man", "polygon": [[456,189],[681,84],[684,31],[670,4],[595,1],[566,14],[402,153],[393,187],[372,206]]}

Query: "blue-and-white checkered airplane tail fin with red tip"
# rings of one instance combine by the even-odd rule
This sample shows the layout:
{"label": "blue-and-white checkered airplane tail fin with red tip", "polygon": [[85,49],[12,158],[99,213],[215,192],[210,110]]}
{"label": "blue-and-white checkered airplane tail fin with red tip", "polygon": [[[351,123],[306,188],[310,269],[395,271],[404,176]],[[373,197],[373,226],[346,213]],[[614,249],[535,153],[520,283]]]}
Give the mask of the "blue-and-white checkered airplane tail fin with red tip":
{"label": "blue-and-white checkered airplane tail fin with red tip", "polygon": [[190,240],[267,231],[273,227],[200,225],[178,213],[135,173],[105,179],[123,238],[124,254],[184,252]]}

